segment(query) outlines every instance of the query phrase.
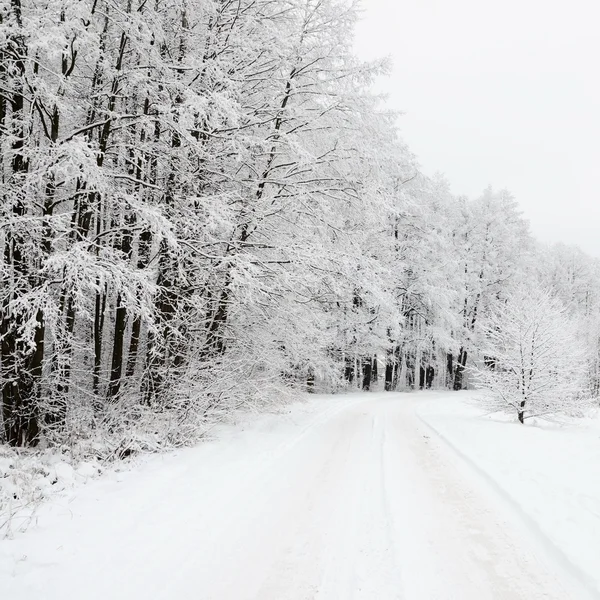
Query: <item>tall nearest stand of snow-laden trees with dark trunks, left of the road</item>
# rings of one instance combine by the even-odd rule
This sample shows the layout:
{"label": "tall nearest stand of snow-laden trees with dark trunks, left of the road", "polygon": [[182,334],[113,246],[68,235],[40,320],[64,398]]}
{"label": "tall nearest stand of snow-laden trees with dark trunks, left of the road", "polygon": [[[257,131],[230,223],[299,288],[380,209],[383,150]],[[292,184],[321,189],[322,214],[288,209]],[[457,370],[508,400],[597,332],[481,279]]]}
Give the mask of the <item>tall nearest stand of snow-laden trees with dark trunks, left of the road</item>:
{"label": "tall nearest stand of snow-laden trees with dark trunks, left of the road", "polygon": [[185,428],[266,381],[333,385],[344,354],[381,347],[397,319],[377,238],[407,154],[370,91],[379,65],[352,54],[357,14],[0,6],[4,441],[168,411]]}

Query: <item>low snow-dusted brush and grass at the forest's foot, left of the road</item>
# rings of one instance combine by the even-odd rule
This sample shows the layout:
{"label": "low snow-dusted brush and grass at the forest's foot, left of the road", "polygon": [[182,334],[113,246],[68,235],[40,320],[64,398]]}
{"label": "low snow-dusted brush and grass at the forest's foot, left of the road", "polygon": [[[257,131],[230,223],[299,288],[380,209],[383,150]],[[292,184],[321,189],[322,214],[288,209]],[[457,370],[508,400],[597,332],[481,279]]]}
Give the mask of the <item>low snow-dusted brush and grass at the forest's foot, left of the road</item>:
{"label": "low snow-dusted brush and grass at the forest's foot, left of the road", "polygon": [[[348,397],[343,398],[328,396],[327,406],[331,409],[340,402],[342,405],[347,403]],[[292,424],[303,420],[312,423],[315,412],[323,412],[315,411],[316,405],[323,400],[323,396],[317,394],[296,397],[297,401],[292,403],[289,402],[289,398],[286,400],[287,404],[282,402],[271,405],[270,413],[239,409],[228,415],[227,423],[207,424],[203,438],[230,438],[232,447],[239,449],[236,444],[248,444],[248,450],[250,444],[260,445],[263,440],[266,444],[265,452],[274,443],[275,436],[284,445],[290,431],[295,430],[295,425]],[[285,427],[287,418],[291,429]],[[251,435],[248,437],[246,432]],[[255,435],[257,433],[260,435]],[[106,447],[96,448],[96,453],[88,450],[77,455],[59,450],[15,450],[0,446],[0,540],[25,532],[42,514],[53,508],[59,512],[63,508],[67,510],[73,497],[79,494],[81,485],[99,475],[104,475],[100,485],[112,480],[120,482],[127,479],[130,472],[133,473],[148,462],[150,465],[162,464],[164,459],[156,455],[157,449],[160,447],[156,445],[143,447],[138,444],[133,456],[126,460],[116,460],[117,453],[114,450],[108,452]],[[171,452],[164,452],[166,450]],[[259,449],[252,448],[255,454],[257,450]],[[150,454],[152,451],[154,461]],[[197,452],[193,448],[189,451]],[[176,460],[179,452],[185,453],[185,450],[163,448],[167,460]],[[112,458],[107,458],[108,455]]]}

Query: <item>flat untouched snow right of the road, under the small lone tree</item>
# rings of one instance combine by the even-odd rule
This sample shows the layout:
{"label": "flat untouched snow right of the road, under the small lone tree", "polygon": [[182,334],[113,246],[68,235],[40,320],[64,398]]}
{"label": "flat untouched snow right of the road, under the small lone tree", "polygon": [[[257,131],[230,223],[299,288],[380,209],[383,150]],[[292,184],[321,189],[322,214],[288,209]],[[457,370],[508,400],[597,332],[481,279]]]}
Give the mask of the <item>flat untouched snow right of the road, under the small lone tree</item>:
{"label": "flat untouched snow right of the road, under the small lone tree", "polygon": [[600,597],[600,421],[506,422],[477,393],[422,394],[418,414],[510,503],[538,543]]}

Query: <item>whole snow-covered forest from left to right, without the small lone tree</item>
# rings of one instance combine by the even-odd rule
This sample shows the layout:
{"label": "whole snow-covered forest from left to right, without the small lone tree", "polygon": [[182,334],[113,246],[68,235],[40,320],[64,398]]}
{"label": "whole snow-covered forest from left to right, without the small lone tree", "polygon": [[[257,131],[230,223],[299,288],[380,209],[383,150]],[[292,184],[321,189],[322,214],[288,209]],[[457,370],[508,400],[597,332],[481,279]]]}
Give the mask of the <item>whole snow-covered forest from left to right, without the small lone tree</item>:
{"label": "whole snow-covered forest from left to right, without the small lone tree", "polygon": [[0,4],[0,441],[127,452],[298,389],[460,390],[506,306],[597,396],[599,261],[420,172],[358,14]]}

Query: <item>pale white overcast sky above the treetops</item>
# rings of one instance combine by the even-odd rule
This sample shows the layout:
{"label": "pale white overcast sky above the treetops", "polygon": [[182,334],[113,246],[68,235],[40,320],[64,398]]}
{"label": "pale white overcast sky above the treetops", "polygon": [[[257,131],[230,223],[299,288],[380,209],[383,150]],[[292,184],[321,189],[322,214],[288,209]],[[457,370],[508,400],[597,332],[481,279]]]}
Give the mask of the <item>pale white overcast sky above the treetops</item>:
{"label": "pale white overcast sky above the treetops", "polygon": [[534,235],[600,257],[600,2],[363,0],[356,48],[423,171],[508,188]]}

